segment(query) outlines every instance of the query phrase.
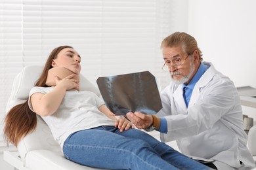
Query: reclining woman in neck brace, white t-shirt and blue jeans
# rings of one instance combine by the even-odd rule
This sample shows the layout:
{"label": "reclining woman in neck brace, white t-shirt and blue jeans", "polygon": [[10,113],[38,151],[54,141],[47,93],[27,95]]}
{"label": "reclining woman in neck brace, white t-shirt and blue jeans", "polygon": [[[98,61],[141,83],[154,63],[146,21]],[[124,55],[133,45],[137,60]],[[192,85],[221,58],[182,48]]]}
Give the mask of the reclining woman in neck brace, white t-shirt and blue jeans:
{"label": "reclining woman in neck brace, white t-shirt and blue jeans", "polygon": [[15,146],[36,127],[50,127],[68,160],[106,169],[208,169],[139,129],[117,120],[95,93],[79,91],[81,58],[71,46],[51,52],[28,101],[5,118],[5,139]]}

